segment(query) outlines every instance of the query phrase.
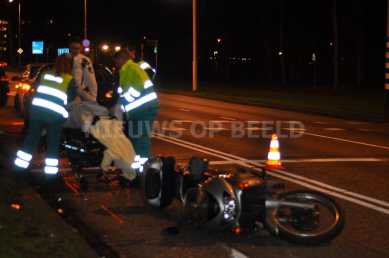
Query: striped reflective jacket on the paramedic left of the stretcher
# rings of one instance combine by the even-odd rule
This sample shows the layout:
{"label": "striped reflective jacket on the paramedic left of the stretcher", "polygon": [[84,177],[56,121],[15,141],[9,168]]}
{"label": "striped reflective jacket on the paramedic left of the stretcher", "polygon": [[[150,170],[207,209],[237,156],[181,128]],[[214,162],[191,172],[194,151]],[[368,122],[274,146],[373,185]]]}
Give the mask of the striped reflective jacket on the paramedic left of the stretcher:
{"label": "striped reflective jacket on the paramedic left of the stretcher", "polygon": [[67,104],[67,87],[73,76],[69,74],[56,75],[55,70],[49,70],[41,75],[32,105],[46,108],[55,113],[68,117],[65,109]]}

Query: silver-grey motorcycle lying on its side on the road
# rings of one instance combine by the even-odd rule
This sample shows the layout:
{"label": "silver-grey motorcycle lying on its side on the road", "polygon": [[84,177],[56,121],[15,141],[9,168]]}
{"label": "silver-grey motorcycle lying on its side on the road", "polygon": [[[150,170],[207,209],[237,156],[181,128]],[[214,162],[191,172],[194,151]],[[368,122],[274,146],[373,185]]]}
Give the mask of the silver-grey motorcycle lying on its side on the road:
{"label": "silver-grey motorcycle lying on its side on the road", "polygon": [[173,157],[156,156],[144,165],[141,191],[145,204],[162,209],[173,197],[186,219],[219,233],[267,231],[288,242],[313,245],[330,241],[343,229],[344,213],[330,196],[312,190],[285,191],[266,169],[238,168],[234,173],[208,170],[208,160],[192,157],[175,170]]}

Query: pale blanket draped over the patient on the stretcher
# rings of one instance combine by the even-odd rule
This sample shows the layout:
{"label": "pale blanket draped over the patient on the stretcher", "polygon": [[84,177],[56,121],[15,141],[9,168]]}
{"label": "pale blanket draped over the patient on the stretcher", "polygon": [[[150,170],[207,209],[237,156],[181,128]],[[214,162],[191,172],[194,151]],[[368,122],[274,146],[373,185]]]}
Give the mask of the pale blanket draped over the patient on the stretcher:
{"label": "pale blanket draped over the patient on the stretcher", "polygon": [[[101,169],[108,171],[108,166],[113,161],[123,170],[125,178],[134,179],[136,173],[131,164],[134,162],[135,151],[130,140],[123,133],[123,123],[116,119],[108,119],[108,109],[99,106],[97,102],[69,103],[67,108],[70,110],[69,117],[63,127],[81,128],[83,132],[89,132],[107,147]],[[100,116],[100,120],[92,125],[95,116]]]}

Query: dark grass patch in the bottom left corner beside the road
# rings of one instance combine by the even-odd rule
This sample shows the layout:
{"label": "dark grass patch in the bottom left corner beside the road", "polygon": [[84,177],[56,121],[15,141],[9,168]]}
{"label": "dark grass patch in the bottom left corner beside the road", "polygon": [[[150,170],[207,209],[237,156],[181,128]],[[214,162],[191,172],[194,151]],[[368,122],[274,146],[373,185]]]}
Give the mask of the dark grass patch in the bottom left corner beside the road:
{"label": "dark grass patch in the bottom left corner beside the road", "polygon": [[53,210],[35,191],[6,176],[5,170],[0,170],[0,186],[0,257],[91,256],[74,232],[53,220]]}

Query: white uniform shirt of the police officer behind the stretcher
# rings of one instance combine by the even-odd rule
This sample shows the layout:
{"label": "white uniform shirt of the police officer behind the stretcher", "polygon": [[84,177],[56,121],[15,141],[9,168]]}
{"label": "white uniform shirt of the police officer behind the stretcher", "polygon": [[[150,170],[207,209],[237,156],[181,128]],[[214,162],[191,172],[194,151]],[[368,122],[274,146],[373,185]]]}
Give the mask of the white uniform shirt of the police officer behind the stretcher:
{"label": "white uniform shirt of the police officer behind the stretcher", "polygon": [[[81,66],[83,59],[87,60],[85,68]],[[81,80],[84,74],[83,83],[81,85]],[[93,70],[93,65],[89,57],[79,54],[73,57],[73,77],[75,80],[75,86],[78,89],[85,89],[88,87],[90,95],[96,100],[97,97],[97,82],[95,77],[95,71]]]}

